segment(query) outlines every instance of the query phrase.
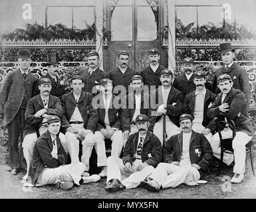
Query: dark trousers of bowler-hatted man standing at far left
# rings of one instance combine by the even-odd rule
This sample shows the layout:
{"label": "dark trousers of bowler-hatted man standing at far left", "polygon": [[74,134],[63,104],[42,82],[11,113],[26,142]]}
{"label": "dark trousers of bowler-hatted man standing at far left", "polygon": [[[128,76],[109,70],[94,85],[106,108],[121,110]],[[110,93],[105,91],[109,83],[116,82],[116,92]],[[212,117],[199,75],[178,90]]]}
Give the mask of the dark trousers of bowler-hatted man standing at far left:
{"label": "dark trousers of bowler-hatted man standing at far left", "polygon": [[[25,127],[25,109],[19,109],[13,121],[7,125],[9,136],[9,157],[11,168],[25,168],[26,162],[23,156],[23,130]],[[21,146],[19,148],[19,136],[21,136]]]}

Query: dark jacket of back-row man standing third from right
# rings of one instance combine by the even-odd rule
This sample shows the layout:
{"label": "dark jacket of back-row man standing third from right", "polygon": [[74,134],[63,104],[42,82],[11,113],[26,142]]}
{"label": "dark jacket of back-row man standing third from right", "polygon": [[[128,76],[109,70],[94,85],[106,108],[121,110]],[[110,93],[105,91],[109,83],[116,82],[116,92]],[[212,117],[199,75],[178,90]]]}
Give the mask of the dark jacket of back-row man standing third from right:
{"label": "dark jacket of back-row man standing third from right", "polygon": [[153,72],[152,68],[150,66],[147,66],[142,72],[140,72],[140,75],[144,79],[144,85],[156,85],[156,88],[161,85],[160,76],[161,71],[165,70],[164,66],[158,66],[158,69],[156,72]]}

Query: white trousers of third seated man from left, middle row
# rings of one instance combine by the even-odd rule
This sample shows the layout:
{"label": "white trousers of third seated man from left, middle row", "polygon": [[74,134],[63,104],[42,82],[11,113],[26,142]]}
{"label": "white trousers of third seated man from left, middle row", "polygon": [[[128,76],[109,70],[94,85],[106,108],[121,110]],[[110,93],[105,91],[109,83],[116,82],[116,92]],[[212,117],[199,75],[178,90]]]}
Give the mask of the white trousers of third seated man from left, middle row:
{"label": "white trousers of third seated man from left, middle row", "polygon": [[[97,131],[95,132],[95,139],[96,143],[102,143],[104,144],[105,147],[105,155],[104,155],[104,160],[106,161],[106,146],[105,146],[105,141],[104,141],[104,135],[100,132]],[[122,152],[122,147],[124,145],[123,138],[122,138],[122,131],[116,131],[114,134],[111,136],[110,140],[112,140],[112,145],[111,145],[111,156],[116,156],[119,158],[121,152]]]}

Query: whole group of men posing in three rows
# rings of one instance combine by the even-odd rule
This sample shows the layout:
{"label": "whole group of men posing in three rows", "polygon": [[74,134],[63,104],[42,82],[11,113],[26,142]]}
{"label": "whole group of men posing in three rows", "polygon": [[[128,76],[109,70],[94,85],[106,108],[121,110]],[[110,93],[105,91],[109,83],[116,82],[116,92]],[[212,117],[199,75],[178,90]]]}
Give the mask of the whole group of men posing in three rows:
{"label": "whole group of men posing in three rows", "polygon": [[[118,66],[110,72],[100,70],[98,53],[90,52],[89,67],[70,79],[69,93],[59,79],[56,54],[47,55],[47,74],[37,79],[29,71],[29,50],[20,50],[20,67],[5,76],[0,89],[11,174],[26,169],[23,185],[55,184],[61,189],[104,177],[106,191],[205,183],[213,155],[220,158],[216,127],[223,120],[222,138],[233,138],[234,151],[224,154],[223,162],[229,166],[234,161],[231,182],[240,183],[245,145],[253,136],[249,79],[234,62],[231,44],[221,44],[220,50],[224,65],[215,72],[211,88],[192,58],[184,59],[184,74],[174,79],[153,48],[150,65],[140,73],[128,66],[128,52],[120,52]],[[106,140],[112,141],[109,157]],[[101,172],[90,176],[93,148]]]}

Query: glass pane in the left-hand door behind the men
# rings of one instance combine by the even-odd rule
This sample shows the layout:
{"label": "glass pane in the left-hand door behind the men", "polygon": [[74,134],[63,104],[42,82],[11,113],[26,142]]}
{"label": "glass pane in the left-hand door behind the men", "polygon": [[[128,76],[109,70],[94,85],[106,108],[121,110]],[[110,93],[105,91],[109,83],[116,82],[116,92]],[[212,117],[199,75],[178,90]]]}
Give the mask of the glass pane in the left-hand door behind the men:
{"label": "glass pane in the left-hand door behind the men", "polygon": [[112,8],[111,38],[132,40],[132,7]]}

